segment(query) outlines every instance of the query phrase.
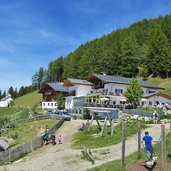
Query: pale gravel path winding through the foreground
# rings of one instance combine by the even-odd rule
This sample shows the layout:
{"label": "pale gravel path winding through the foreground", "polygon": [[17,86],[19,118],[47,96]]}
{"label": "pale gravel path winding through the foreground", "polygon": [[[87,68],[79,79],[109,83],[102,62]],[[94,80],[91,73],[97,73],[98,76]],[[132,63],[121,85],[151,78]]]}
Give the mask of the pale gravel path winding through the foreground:
{"label": "pale gravel path winding through the foreground", "polygon": [[[95,165],[86,160],[81,160],[81,150],[70,148],[73,135],[77,132],[81,123],[82,121],[79,120],[65,122],[57,132],[57,135],[64,135],[63,144],[44,146],[30,153],[23,160],[8,165],[8,169],[10,171],[81,171],[121,158],[121,143],[119,143],[93,150],[93,155],[96,158]],[[147,130],[157,140],[160,137],[160,125],[150,126]],[[126,141],[126,155],[136,150],[136,136],[132,136]],[[3,168],[0,167],[1,169]]]}

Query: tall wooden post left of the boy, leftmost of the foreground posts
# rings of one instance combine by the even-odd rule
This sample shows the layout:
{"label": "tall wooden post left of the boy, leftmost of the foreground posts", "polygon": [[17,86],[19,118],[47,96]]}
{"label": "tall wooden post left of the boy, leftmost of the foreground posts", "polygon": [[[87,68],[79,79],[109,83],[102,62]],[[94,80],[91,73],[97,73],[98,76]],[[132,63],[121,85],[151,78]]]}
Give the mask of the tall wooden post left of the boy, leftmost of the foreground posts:
{"label": "tall wooden post left of the boy, leftmost of the foreground posts", "polygon": [[125,166],[125,134],[126,134],[126,125],[125,122],[122,123],[122,156],[121,156],[121,167]]}

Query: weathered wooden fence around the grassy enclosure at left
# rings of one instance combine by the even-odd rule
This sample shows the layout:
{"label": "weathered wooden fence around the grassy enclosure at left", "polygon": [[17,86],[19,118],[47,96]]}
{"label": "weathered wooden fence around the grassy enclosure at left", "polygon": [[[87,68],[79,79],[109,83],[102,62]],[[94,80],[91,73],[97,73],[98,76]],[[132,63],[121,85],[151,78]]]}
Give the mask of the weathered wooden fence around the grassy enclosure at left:
{"label": "weathered wooden fence around the grassy enclosure at left", "polygon": [[[22,119],[15,123],[26,122],[29,120],[47,119],[47,118],[58,118],[58,117],[56,117],[56,116],[39,116],[39,117],[30,118],[27,120]],[[64,122],[64,118],[60,118],[59,122],[56,123],[54,126],[52,126],[49,129],[49,133],[50,134],[54,133],[55,130],[57,130],[63,124],[63,122]],[[31,140],[28,143],[22,144],[14,149],[8,149],[7,151],[0,152],[0,162],[11,161],[11,160],[21,156],[22,154],[29,153],[29,152],[41,147],[42,145],[43,145],[42,138],[37,137],[34,140]]]}

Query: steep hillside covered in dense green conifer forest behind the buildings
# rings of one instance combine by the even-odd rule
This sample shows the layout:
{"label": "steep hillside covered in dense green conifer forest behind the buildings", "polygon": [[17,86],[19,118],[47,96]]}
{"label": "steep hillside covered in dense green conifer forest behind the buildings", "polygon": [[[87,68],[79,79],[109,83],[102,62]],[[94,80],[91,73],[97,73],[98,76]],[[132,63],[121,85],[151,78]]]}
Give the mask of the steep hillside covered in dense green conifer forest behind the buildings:
{"label": "steep hillside covered in dense green conifer forest behind the buildings", "polygon": [[171,76],[171,15],[144,19],[80,45],[66,57],[51,61],[33,76],[33,85],[90,73],[125,77]]}

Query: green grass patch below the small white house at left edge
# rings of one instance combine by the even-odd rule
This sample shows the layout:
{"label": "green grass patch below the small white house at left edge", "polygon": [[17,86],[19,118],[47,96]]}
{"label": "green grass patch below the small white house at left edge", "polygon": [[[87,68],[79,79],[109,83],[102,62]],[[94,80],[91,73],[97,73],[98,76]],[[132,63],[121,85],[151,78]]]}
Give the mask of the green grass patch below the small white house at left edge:
{"label": "green grass patch below the small white house at left edge", "polygon": [[9,118],[11,121],[28,118],[27,109],[0,108],[0,118]]}

